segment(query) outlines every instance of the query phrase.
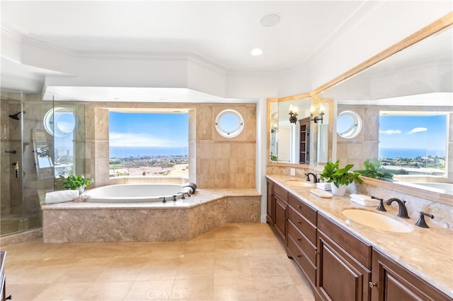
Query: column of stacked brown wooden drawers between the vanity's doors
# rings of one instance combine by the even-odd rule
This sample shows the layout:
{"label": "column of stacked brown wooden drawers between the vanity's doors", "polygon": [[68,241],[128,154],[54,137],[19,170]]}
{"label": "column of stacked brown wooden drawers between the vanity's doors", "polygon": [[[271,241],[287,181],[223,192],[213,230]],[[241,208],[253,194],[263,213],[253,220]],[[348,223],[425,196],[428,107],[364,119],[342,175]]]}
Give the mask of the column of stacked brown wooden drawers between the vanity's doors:
{"label": "column of stacked brown wooden drawers between the vanity's doors", "polygon": [[292,194],[288,195],[288,203],[288,256],[315,288],[317,212]]}

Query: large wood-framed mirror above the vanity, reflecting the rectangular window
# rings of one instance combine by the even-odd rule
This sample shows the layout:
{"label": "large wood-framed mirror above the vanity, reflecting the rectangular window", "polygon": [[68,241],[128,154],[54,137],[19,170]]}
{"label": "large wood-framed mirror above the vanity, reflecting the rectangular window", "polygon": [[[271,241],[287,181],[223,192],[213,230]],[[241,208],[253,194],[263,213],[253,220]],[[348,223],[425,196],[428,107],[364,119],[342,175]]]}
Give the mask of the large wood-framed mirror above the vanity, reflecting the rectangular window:
{"label": "large wood-framed mirror above the vanity, reflecting the rectangular window", "polygon": [[[432,191],[436,199],[452,203],[452,48],[450,17],[312,91],[312,98],[333,100],[337,114],[328,132],[334,146],[328,158],[355,169],[379,158],[394,173],[386,187],[404,187],[399,190],[409,194],[427,191],[428,196]],[[344,112],[359,118],[349,114],[349,125],[337,124],[338,116],[348,115]],[[346,137],[343,131],[355,132]]]}

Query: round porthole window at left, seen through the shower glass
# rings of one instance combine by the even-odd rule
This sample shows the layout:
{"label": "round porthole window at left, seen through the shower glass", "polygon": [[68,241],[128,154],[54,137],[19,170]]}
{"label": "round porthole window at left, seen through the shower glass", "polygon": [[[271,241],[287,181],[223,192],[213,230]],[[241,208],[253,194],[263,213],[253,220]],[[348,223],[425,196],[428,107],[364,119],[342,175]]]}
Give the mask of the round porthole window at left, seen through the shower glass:
{"label": "round porthole window at left, seen through the shower glass", "polygon": [[74,113],[65,107],[54,107],[44,115],[44,128],[47,133],[55,137],[71,134],[76,126]]}

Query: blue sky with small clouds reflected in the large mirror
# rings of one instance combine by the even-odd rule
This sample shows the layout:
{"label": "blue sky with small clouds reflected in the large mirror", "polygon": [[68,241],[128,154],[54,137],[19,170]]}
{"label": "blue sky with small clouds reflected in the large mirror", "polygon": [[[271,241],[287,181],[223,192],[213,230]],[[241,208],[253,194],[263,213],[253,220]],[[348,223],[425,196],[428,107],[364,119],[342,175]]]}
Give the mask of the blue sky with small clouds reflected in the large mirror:
{"label": "blue sky with small clouds reflected in the large mirror", "polygon": [[447,116],[379,117],[380,148],[445,149]]}

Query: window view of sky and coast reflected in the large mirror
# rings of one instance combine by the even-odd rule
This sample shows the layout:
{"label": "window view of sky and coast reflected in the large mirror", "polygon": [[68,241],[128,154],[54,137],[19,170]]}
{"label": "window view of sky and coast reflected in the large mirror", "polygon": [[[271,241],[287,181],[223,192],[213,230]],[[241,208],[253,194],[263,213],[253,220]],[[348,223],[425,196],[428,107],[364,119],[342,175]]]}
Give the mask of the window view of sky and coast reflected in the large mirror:
{"label": "window view of sky and coast reflected in the large mirror", "polygon": [[447,114],[381,112],[379,161],[395,175],[445,176]]}

